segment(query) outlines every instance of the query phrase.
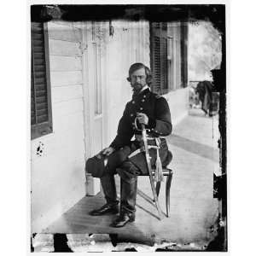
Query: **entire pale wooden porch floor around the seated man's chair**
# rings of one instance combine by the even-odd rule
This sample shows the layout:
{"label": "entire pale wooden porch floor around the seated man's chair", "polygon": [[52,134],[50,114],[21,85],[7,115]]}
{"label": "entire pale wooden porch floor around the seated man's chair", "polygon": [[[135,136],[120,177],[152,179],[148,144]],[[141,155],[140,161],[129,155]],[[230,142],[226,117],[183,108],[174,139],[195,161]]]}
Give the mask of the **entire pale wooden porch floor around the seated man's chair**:
{"label": "entire pale wooden porch floor around the seated man's chair", "polygon": [[[92,209],[105,203],[102,193],[84,196],[44,233],[119,234],[122,241],[153,245],[154,242],[199,242],[211,239],[211,227],[218,216],[218,201],[213,199],[213,172],[218,164],[218,116],[204,117],[199,109],[190,111],[168,138],[173,154],[171,216],[159,220],[148,177],[138,178],[136,221],[123,228],[112,228],[116,216],[92,217]],[[119,191],[119,177],[116,177]],[[160,189],[160,205],[166,212],[165,183]]]}

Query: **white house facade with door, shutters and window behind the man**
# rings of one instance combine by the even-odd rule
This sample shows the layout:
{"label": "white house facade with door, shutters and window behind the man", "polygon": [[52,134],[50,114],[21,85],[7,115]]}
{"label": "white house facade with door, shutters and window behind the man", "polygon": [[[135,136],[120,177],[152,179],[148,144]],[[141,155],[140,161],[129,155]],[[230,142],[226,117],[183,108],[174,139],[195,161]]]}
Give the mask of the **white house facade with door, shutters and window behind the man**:
{"label": "white house facade with door, shutters and window behind the man", "polygon": [[32,22],[32,232],[100,190],[85,160],[115,137],[132,63],[151,67],[174,125],[188,113],[187,34],[181,22]]}

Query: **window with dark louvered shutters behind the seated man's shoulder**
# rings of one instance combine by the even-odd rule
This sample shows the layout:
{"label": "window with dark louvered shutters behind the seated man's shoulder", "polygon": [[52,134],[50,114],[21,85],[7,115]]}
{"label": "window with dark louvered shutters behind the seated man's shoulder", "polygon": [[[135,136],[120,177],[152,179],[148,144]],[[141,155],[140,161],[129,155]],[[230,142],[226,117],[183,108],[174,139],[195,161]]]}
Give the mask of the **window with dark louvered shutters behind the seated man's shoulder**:
{"label": "window with dark louvered shutters behind the seated man's shoulder", "polygon": [[[155,77],[156,44],[154,38],[159,38],[160,44],[160,70],[157,72],[157,78]],[[172,40],[172,58],[168,55],[170,51],[170,39]],[[164,52],[166,50],[165,47],[163,47],[165,40],[167,54]],[[165,95],[170,91],[179,90],[188,86],[187,42],[188,24],[186,22],[173,25],[169,22],[150,22],[150,67],[154,81],[157,81],[157,83],[151,85],[151,90],[160,95]],[[163,59],[165,55],[166,58]]]}

